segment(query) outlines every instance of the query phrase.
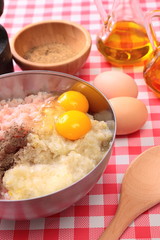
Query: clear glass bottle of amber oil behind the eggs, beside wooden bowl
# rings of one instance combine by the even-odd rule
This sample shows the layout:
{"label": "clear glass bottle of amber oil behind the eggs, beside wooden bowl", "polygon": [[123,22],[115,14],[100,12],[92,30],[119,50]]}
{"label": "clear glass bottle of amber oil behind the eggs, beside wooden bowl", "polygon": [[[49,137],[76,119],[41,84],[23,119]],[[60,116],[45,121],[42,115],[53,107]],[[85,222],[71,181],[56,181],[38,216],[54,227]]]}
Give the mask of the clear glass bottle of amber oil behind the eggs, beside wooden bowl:
{"label": "clear glass bottle of amber oil behind the eggs, beside wooden bowl", "polygon": [[139,1],[114,0],[110,14],[101,0],[95,0],[95,4],[102,19],[96,40],[98,50],[113,65],[143,65],[153,49]]}

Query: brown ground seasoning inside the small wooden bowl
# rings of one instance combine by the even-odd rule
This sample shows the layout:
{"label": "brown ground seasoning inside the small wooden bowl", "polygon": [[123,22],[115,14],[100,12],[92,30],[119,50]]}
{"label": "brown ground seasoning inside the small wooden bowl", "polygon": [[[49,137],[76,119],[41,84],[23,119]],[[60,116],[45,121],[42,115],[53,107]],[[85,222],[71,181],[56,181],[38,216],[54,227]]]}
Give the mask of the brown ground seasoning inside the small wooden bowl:
{"label": "brown ground seasoning inside the small wooden bowl", "polygon": [[75,54],[66,43],[53,42],[29,49],[24,58],[31,62],[50,64],[68,60]]}

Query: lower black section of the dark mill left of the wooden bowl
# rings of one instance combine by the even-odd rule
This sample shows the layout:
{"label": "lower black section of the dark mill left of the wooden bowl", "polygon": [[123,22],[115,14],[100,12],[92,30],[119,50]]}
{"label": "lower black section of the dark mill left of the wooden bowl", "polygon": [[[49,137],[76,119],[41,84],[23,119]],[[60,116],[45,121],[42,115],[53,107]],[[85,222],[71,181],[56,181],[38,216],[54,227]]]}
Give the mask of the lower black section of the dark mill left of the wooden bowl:
{"label": "lower black section of the dark mill left of the wooden bowl", "polygon": [[0,74],[13,71],[14,68],[8,34],[5,28],[0,25]]}

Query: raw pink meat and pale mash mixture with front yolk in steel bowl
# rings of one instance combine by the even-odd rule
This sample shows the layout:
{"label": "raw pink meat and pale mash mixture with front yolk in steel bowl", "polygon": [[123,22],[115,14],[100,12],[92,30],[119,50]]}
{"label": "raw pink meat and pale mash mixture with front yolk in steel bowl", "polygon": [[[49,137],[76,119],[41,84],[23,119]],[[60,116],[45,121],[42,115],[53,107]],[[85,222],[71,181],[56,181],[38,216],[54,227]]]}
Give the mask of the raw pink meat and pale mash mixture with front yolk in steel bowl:
{"label": "raw pink meat and pale mash mixture with front yolk in steel bowl", "polygon": [[91,171],[109,148],[113,134],[108,123],[80,110],[66,111],[61,97],[39,92],[0,101],[2,199],[63,189]]}

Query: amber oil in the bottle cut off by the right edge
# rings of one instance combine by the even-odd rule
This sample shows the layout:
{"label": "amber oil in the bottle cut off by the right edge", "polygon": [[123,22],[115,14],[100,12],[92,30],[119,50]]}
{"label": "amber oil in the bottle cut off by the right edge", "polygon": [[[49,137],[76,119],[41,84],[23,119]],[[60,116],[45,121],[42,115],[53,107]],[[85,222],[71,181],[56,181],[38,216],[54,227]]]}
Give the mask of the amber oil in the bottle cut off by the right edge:
{"label": "amber oil in the bottle cut off by the right edge", "polygon": [[152,89],[155,95],[160,98],[160,51],[156,50],[148,60],[144,72],[146,84]]}

